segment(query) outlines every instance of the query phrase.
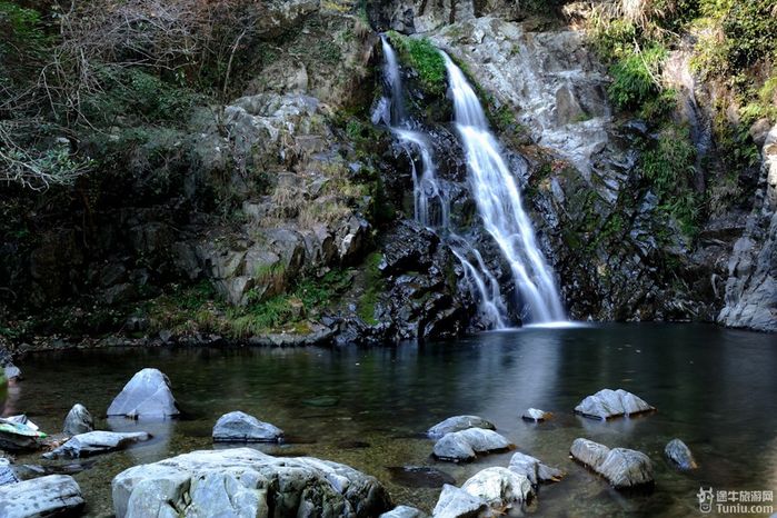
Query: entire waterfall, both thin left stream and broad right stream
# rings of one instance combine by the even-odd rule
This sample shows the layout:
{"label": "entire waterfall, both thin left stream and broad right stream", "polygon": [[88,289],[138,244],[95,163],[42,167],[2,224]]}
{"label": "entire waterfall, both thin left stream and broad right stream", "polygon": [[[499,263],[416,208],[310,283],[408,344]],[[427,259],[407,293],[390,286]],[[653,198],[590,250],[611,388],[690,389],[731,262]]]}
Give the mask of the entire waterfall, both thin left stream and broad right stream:
{"label": "entire waterfall, both thin left stream and broad right stream", "polygon": [[[426,133],[414,128],[407,116],[396,53],[386,37],[381,37],[381,41],[383,78],[390,97],[380,100],[372,122],[385,123],[411,157],[415,219],[444,237],[461,262],[465,279],[479,300],[481,320],[495,329],[508,328],[508,309],[499,281],[471,240],[450,228],[450,200],[436,176],[431,142]],[[566,320],[552,272],[537,247],[515,178],[488,131],[486,114],[461,71],[448,56],[442,56],[448,68],[456,124],[467,157],[470,189],[485,229],[510,265],[522,299],[524,318],[532,323]],[[414,149],[420,155],[420,168],[412,160]]]}

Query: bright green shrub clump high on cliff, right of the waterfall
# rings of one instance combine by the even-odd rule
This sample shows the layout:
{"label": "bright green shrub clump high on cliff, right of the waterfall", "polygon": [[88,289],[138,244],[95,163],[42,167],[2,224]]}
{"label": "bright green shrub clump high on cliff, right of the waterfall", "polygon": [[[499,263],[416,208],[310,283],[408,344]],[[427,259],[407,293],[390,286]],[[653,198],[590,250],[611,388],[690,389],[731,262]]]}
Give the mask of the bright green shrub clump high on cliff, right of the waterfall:
{"label": "bright green shrub clump high on cliff, right of the waterfall", "polygon": [[660,92],[656,79],[667,51],[660,46],[635,51],[610,67],[612,83],[607,89],[612,102],[621,109],[638,109]]}

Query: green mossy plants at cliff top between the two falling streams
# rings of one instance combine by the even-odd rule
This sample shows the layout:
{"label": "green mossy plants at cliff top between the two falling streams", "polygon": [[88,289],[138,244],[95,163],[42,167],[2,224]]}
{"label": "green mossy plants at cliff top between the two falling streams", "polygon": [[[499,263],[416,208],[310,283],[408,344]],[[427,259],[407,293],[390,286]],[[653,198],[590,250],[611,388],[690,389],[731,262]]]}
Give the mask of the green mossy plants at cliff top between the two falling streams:
{"label": "green mossy plants at cliff top between the two falling streams", "polygon": [[445,96],[447,72],[442,54],[427,38],[408,38],[396,31],[388,33],[404,63],[412,68],[424,90],[431,96]]}

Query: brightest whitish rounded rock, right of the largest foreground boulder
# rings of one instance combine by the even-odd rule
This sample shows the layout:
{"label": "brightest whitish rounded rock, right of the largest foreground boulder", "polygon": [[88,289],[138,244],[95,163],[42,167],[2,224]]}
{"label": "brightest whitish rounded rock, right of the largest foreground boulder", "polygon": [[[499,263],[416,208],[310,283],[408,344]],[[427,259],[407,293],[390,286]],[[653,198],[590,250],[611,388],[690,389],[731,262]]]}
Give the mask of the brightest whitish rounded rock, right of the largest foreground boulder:
{"label": "brightest whitish rounded rock, right of the largest foreground boulder", "polygon": [[527,502],[534,490],[525,475],[501,467],[486,468],[464,482],[461,489],[484,500],[491,509],[504,511]]}

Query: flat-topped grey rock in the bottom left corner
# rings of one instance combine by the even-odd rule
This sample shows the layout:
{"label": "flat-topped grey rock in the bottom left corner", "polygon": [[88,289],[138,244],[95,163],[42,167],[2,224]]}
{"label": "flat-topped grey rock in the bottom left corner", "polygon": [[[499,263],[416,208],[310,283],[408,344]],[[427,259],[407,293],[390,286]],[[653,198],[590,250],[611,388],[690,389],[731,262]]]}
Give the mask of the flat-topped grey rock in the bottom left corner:
{"label": "flat-topped grey rock in the bottom left corner", "polygon": [[78,515],[81,488],[69,475],[49,475],[0,487],[0,516],[51,518]]}

